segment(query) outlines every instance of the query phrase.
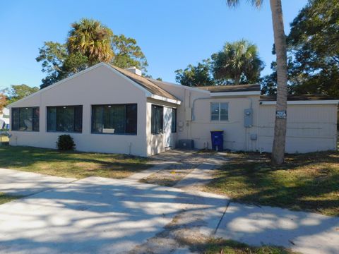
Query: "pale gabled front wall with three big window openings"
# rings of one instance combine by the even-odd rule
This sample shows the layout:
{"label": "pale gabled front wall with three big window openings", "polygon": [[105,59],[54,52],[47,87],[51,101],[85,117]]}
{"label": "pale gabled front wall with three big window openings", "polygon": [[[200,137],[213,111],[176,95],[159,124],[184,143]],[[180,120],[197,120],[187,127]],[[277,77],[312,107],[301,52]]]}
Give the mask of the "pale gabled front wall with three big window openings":
{"label": "pale gabled front wall with three big window openings", "polygon": [[[65,133],[47,132],[47,107],[83,105],[83,132],[68,133],[76,143],[76,150],[147,156],[145,92],[124,76],[112,73],[107,66],[98,66],[45,89],[13,105],[40,107],[40,131],[11,131],[10,145],[56,148],[58,136]],[[138,104],[137,135],[91,133],[91,105],[127,103]]]}

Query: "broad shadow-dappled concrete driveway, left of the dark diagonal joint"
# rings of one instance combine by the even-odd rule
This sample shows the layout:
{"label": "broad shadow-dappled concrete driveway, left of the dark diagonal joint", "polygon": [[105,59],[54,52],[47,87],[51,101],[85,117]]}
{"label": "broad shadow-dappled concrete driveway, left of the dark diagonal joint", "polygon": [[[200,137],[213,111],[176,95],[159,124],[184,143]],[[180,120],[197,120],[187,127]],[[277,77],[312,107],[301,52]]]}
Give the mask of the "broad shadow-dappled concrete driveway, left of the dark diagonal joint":
{"label": "broad shadow-dappled concrete driveway, left of the dark diagonal joint", "polygon": [[125,253],[163,231],[182,210],[200,211],[206,222],[201,230],[211,233],[227,201],[90,177],[0,205],[0,253]]}

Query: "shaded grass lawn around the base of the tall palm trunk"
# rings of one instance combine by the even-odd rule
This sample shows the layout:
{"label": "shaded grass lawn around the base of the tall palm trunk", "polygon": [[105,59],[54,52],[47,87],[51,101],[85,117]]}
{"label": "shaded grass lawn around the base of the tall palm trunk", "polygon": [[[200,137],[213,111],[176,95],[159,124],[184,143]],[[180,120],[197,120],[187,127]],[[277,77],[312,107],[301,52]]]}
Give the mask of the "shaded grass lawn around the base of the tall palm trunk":
{"label": "shaded grass lawn around the base of the tall palm trunk", "polygon": [[268,155],[229,154],[205,191],[234,201],[339,216],[339,152],[286,155],[272,167]]}

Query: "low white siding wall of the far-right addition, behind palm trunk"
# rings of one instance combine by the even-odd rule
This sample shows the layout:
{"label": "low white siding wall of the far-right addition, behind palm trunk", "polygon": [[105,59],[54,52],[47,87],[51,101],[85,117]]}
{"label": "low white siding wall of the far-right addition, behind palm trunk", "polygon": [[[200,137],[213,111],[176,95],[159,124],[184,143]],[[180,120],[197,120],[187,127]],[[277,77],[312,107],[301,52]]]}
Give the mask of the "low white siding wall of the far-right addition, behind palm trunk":
{"label": "low white siding wall of the far-right addition, behind palm trunk", "polygon": [[[336,150],[336,104],[288,104],[286,152]],[[259,140],[261,151],[272,152],[275,105],[261,105]]]}

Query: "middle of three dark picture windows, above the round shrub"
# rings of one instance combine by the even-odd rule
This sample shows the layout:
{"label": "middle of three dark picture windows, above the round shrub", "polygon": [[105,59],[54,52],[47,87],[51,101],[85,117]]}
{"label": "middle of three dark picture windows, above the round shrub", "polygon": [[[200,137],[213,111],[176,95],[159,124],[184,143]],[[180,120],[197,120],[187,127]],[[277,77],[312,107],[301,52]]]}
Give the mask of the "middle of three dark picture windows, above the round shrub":
{"label": "middle of three dark picture windows, above the round shrub", "polygon": [[81,133],[83,106],[47,107],[47,131]]}

